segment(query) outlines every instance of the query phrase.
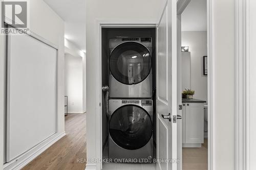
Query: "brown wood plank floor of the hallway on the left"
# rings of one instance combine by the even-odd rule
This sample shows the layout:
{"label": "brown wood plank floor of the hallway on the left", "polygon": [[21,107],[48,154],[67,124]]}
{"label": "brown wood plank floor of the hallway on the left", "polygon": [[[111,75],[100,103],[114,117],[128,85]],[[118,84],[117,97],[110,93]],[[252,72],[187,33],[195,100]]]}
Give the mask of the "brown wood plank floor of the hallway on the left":
{"label": "brown wood plank floor of the hallway on the left", "polygon": [[36,157],[23,169],[84,170],[86,162],[86,114],[69,114],[65,117],[66,136],[54,143],[49,149]]}

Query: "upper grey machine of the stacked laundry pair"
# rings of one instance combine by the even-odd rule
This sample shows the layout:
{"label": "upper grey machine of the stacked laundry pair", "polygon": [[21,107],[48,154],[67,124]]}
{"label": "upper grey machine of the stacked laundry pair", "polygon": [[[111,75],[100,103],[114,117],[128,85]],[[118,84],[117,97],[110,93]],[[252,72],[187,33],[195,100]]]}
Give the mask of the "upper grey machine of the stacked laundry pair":
{"label": "upper grey machine of the stacked laundry pair", "polygon": [[152,98],[152,38],[109,40],[111,98]]}

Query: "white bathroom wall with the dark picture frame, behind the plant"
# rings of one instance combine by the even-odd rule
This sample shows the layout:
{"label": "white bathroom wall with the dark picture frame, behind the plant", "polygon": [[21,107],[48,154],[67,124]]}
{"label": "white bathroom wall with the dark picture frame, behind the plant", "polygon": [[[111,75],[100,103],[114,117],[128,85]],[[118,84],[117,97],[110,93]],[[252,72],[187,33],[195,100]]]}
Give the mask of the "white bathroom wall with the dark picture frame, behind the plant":
{"label": "white bathroom wall with the dark picture frame, behind the plant", "polygon": [[194,98],[207,101],[207,76],[203,75],[203,56],[207,56],[207,32],[182,31],[181,45],[188,46],[191,54],[190,89],[195,90]]}

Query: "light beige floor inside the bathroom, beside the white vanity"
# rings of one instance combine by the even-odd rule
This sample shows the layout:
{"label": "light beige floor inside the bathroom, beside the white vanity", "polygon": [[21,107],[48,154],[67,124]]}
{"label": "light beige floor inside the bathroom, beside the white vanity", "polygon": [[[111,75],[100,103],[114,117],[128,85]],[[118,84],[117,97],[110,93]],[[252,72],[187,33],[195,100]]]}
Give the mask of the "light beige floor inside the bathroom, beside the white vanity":
{"label": "light beige floor inside the bathroom, beside the white vanity", "polygon": [[201,148],[182,149],[182,169],[183,170],[207,170],[208,166],[208,144],[204,139]]}

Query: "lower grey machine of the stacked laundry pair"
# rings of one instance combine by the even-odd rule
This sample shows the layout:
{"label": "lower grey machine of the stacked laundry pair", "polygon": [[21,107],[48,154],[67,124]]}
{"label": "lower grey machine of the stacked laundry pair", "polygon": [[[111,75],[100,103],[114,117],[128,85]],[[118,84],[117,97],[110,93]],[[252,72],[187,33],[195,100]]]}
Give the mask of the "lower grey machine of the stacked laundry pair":
{"label": "lower grey machine of the stacked laundry pair", "polygon": [[118,163],[151,163],[153,101],[111,99],[109,104],[109,158]]}

